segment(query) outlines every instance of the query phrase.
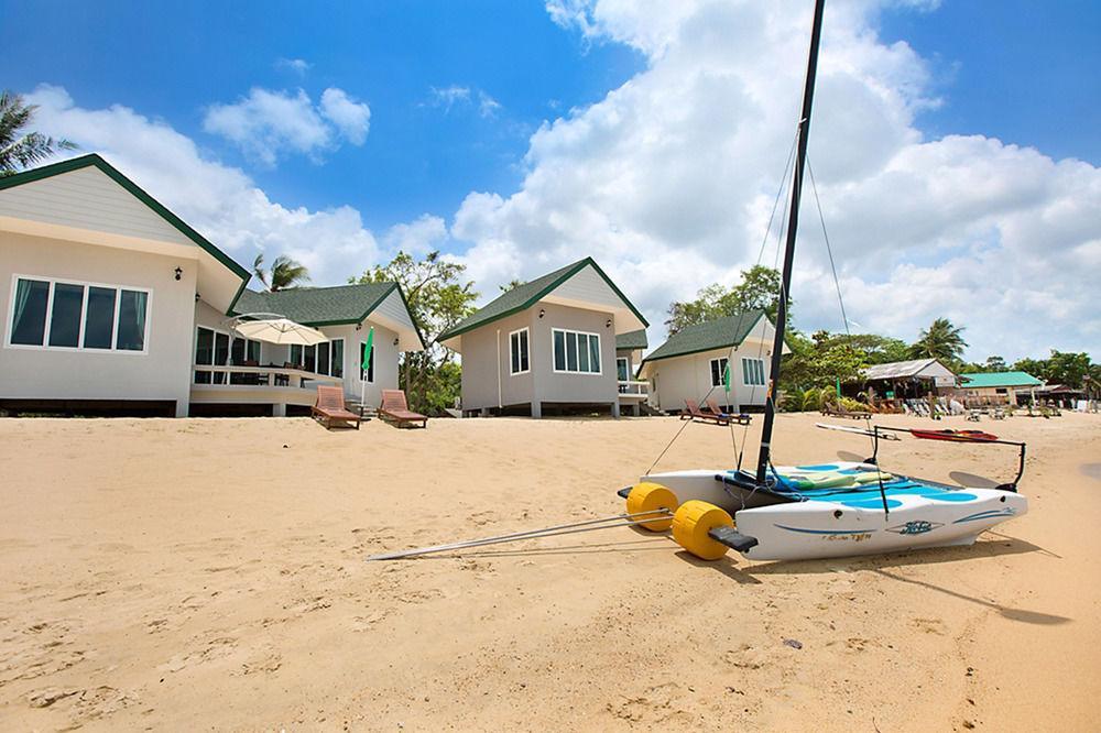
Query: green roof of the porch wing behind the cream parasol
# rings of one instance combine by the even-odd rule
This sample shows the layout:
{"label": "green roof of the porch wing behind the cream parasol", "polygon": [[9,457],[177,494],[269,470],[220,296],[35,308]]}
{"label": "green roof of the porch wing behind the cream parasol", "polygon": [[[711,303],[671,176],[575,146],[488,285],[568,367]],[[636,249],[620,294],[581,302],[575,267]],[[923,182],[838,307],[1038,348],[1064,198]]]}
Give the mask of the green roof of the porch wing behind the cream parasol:
{"label": "green roof of the porch wing behind the cream parasol", "polygon": [[[364,283],[361,285],[336,285],[334,287],[290,287],[274,293],[246,291],[237,303],[236,314],[272,313],[285,316],[304,326],[345,326],[360,324],[378,308],[386,297],[397,291],[408,310],[405,294],[397,283]],[[410,311],[410,320],[413,314]],[[421,344],[424,337],[413,322]]]}

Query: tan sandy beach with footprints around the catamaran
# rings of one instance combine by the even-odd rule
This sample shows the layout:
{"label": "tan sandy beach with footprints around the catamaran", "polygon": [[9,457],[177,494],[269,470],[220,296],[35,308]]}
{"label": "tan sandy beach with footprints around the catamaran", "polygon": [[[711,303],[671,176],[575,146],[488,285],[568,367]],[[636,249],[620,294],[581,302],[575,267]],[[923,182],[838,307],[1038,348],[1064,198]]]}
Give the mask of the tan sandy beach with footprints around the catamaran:
{"label": "tan sandy beach with footprints around the catamaran", "polygon": [[[780,416],[776,462],[866,453],[820,419]],[[363,561],[619,512],[679,425],[0,420],[0,729],[1095,730],[1097,415],[980,426],[1028,441],[1031,511],[971,548],[707,564],[615,528]],[[693,425],[658,468],[730,462]]]}

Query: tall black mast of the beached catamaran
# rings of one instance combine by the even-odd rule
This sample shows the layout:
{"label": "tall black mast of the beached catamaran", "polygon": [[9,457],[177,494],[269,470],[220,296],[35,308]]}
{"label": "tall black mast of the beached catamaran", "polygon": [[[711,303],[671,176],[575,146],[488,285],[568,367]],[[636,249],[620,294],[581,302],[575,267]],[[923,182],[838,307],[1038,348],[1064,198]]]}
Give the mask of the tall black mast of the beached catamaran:
{"label": "tall black mast of the beached catamaran", "polygon": [[815,74],[818,70],[818,44],[822,32],[822,11],[826,0],[815,0],[815,20],[810,31],[810,55],[807,61],[807,80],[803,89],[803,113],[799,116],[799,145],[792,176],[792,204],[787,218],[787,242],[784,249],[784,276],[776,308],[776,338],[772,344],[772,366],[768,370],[768,394],[764,405],[764,426],[761,430],[761,453],[757,457],[756,480],[764,483],[768,470],[772,426],[776,419],[776,384],[780,382],[780,359],[784,352],[784,333],[787,331],[787,300],[792,293],[792,261],[795,258],[795,233],[799,227],[799,196],[803,193],[803,166],[807,161],[807,139],[810,133],[810,105],[815,97]]}

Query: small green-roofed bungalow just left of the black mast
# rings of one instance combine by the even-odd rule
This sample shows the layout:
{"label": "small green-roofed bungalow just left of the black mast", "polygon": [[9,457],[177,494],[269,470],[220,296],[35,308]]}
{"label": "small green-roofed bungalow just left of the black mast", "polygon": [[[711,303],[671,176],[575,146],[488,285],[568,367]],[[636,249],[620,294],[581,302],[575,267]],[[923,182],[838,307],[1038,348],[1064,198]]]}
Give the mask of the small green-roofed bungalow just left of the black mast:
{"label": "small green-roofed bungalow just left of the black mast", "polygon": [[[775,336],[775,326],[763,310],[683,328],[642,360],[639,376],[650,382],[650,404],[663,412],[680,412],[685,400],[710,395],[729,412],[762,407]],[[728,364],[729,392],[723,381]]]}

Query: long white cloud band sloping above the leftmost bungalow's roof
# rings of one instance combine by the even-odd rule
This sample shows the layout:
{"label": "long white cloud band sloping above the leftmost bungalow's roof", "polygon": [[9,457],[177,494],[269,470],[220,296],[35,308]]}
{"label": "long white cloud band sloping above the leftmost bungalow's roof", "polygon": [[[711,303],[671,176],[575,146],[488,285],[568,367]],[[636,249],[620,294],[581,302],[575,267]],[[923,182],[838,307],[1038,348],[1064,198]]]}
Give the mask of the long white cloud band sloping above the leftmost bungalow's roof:
{"label": "long white cloud band sloping above the leftmost bungalow's roof", "polygon": [[242,264],[258,252],[269,261],[288,254],[309,267],[314,284],[326,285],[390,254],[355,208],[310,210],[273,201],[241,169],[204,157],[194,141],[162,121],[118,105],[78,107],[61,87],[40,86],[26,99],[40,106],[39,130],[101,153]]}

